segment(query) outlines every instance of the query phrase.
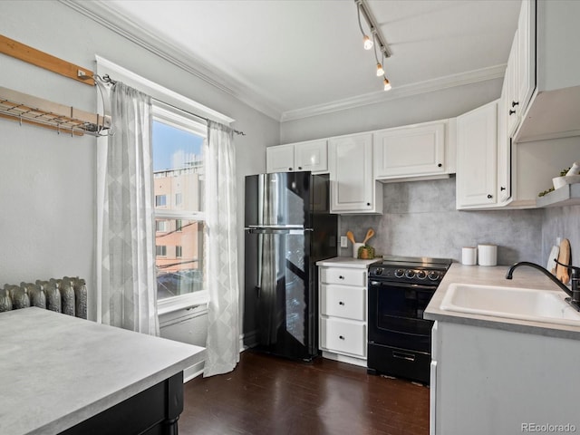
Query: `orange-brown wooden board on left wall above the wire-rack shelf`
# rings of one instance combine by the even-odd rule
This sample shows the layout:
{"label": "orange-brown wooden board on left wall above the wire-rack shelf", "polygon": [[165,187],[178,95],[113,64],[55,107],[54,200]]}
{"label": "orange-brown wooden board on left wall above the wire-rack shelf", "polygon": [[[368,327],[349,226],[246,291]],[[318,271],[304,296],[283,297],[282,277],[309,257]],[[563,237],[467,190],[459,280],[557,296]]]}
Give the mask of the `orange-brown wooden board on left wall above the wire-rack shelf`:
{"label": "orange-brown wooden board on left wall above the wire-rack shelf", "polygon": [[63,59],[36,50],[24,43],[14,41],[14,39],[10,39],[2,34],[0,34],[0,53],[12,56],[26,63],[32,63],[53,73],[61,74],[76,82],[94,86],[91,70],[75,65],[74,63],[63,61]]}

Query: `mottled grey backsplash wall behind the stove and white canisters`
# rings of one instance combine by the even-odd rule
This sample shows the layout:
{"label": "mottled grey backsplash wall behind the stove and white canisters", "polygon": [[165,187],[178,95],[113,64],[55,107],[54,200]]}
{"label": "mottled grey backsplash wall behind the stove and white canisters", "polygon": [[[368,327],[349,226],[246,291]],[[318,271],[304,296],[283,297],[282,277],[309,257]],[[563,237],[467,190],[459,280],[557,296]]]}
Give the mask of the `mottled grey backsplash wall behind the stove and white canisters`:
{"label": "mottled grey backsplash wall behind the stove and white canisters", "polygon": [[[340,218],[339,233],[354,233],[362,241],[372,227],[369,242],[377,254],[461,258],[461,247],[478,243],[498,245],[498,265],[517,261],[544,264],[542,222],[544,210],[458,211],[455,178],[383,186],[384,208],[379,216]],[[577,218],[576,218],[577,227]],[[341,256],[352,255],[352,246]]]}

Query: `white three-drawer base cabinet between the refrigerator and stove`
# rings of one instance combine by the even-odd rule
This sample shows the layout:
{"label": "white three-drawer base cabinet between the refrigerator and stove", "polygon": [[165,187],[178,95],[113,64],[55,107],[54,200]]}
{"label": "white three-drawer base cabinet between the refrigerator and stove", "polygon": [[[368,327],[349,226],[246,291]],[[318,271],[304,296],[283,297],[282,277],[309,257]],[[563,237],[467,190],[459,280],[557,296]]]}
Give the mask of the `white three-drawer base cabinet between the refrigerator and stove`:
{"label": "white three-drawer base cabinet between the refrigerator and stove", "polygon": [[319,266],[320,349],[325,358],[366,367],[367,266],[374,260],[333,261],[318,263],[327,265]]}

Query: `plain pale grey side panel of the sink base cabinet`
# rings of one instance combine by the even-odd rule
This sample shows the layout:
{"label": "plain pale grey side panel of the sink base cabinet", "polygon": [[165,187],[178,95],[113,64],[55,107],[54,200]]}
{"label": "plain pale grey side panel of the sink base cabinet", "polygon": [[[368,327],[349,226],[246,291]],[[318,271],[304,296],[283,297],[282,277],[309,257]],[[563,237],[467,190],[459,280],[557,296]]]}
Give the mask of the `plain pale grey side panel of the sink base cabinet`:
{"label": "plain pale grey side panel of the sink base cabinet", "polygon": [[580,430],[578,333],[564,338],[546,336],[542,328],[522,333],[504,327],[436,322],[430,435]]}

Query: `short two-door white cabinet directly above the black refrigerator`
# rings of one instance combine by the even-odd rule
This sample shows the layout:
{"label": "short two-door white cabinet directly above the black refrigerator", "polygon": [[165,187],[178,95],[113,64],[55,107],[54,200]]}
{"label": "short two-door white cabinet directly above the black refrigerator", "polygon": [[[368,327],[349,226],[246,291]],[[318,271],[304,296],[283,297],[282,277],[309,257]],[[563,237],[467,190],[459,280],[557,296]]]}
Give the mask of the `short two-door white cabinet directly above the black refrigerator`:
{"label": "short two-door white cabinet directly above the black refrigerator", "polygon": [[328,172],[327,140],[309,140],[266,148],[267,172]]}

